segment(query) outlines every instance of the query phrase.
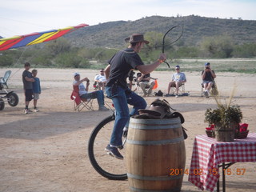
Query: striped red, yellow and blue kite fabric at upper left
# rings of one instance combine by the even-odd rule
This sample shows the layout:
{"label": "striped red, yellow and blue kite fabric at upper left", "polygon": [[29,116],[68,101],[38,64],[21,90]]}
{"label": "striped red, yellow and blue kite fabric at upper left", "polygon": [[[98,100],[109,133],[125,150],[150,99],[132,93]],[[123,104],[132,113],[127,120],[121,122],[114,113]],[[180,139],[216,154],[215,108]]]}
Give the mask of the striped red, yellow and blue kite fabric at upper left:
{"label": "striped red, yellow and blue kite fabric at upper left", "polygon": [[49,30],[33,34],[25,34],[21,36],[14,36],[12,38],[0,38],[0,51],[14,49],[20,46],[30,46],[41,42],[49,42],[62,35],[71,33],[74,30],[88,26],[87,24],[80,24],[78,26],[70,26],[59,30]]}

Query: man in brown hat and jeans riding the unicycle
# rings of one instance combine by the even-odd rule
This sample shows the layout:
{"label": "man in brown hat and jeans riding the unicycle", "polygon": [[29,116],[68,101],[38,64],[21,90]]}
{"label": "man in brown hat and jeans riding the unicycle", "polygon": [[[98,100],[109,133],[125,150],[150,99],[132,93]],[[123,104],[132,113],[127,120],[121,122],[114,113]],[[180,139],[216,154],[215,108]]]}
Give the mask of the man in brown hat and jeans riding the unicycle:
{"label": "man in brown hat and jeans riding the unicycle", "polygon": [[[143,34],[132,34],[125,41],[130,43],[128,48],[114,54],[105,69],[107,79],[106,94],[112,99],[116,110],[110,143],[106,146],[105,150],[107,154],[118,159],[123,159],[118,149],[122,149],[122,133],[128,127],[130,115],[138,114],[139,109],[146,108],[144,98],[128,88],[126,82],[128,73],[132,69],[137,69],[142,74],[150,74],[166,60],[166,55],[160,54],[156,62],[150,65],[144,65],[138,53],[142,50],[144,44],[148,44],[149,42],[144,39]],[[129,111],[128,104],[134,106],[131,111]]]}

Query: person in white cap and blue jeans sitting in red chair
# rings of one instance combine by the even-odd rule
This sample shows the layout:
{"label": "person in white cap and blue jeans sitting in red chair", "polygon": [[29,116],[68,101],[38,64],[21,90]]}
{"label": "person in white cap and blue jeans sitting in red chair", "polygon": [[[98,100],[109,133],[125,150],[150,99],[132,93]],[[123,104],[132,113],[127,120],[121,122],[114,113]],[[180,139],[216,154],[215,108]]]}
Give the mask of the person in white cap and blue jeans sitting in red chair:
{"label": "person in white cap and blue jeans sitting in red chair", "polygon": [[[86,86],[84,86],[83,82],[86,82]],[[88,92],[88,88],[90,85],[89,78],[82,78],[80,80],[80,74],[78,72],[74,73],[74,82],[73,86],[78,86],[79,96],[80,98],[97,98],[98,101],[98,110],[108,110],[106,106],[104,106],[104,94],[102,90],[96,90],[94,92]]]}

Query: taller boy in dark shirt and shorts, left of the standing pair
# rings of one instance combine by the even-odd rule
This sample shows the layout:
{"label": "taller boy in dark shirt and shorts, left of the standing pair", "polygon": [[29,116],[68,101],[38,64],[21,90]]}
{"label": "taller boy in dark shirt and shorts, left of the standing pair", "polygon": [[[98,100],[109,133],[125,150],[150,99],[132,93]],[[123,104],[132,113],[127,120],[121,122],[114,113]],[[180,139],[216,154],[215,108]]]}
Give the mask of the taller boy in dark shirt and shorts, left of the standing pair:
{"label": "taller boy in dark shirt and shorts, left of the standing pair", "polygon": [[32,76],[32,73],[30,70],[30,63],[26,62],[24,64],[25,70],[22,73],[22,82],[23,82],[23,88],[24,88],[24,94],[25,94],[25,109],[24,114],[28,114],[29,112],[32,112],[29,110],[29,104],[30,101],[33,99],[33,86],[32,82],[34,82],[34,78]]}

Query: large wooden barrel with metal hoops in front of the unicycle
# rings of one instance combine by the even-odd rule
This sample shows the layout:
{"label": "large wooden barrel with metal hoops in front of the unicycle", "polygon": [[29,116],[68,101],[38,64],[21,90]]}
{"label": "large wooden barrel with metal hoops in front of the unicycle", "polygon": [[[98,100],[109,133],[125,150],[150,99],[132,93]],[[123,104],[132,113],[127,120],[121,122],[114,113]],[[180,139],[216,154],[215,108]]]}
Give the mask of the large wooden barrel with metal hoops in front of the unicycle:
{"label": "large wooden barrel with metal hoops in front of the unicycle", "polygon": [[125,161],[130,191],[180,191],[186,162],[180,118],[130,118]]}

